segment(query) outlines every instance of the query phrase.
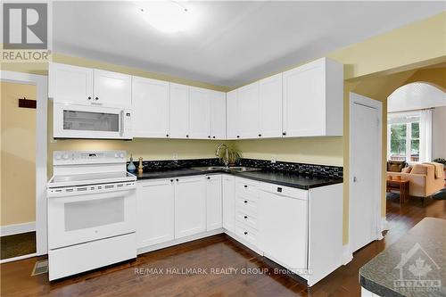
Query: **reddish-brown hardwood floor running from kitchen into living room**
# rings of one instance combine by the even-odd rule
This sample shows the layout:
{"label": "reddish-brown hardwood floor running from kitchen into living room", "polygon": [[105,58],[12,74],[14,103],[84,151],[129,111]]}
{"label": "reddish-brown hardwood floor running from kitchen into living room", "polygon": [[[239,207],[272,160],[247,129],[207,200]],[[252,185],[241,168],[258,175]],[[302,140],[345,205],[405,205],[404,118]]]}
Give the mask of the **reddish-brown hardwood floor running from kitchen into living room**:
{"label": "reddish-brown hardwood floor running from kitchen into living room", "polygon": [[[311,288],[295,277],[275,274],[270,261],[227,235],[216,235],[51,284],[46,275],[30,276],[37,258],[5,263],[0,266],[0,292],[2,296],[359,296],[359,268],[425,217],[446,219],[446,202],[426,199],[423,205],[410,199],[400,206],[398,199],[387,201],[390,230],[384,239],[355,252],[348,265]],[[164,273],[168,268],[207,268],[208,275],[142,273],[145,268]],[[211,268],[237,268],[238,273],[211,274]],[[242,273],[248,268],[268,272]]]}

